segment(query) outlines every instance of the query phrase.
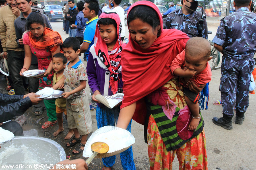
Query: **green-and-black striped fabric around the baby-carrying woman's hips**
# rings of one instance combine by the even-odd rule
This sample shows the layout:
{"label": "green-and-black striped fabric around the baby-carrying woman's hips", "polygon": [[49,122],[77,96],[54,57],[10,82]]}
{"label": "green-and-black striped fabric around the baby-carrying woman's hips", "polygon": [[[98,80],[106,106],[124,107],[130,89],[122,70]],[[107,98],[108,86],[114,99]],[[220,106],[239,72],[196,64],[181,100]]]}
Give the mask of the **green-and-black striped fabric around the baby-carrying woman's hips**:
{"label": "green-and-black striped fabric around the baby-carrying woman's hips", "polygon": [[[177,133],[176,129],[176,122],[178,118],[179,108],[176,107],[176,112],[170,120],[163,112],[162,106],[159,105],[152,105],[150,102],[146,102],[149,107],[147,107],[148,114],[152,114],[156,121],[156,125],[160,131],[161,137],[164,141],[167,151],[175,150],[180,148],[184,145],[187,141],[191,140],[192,138],[196,137],[203,131],[204,121],[203,117],[201,116],[201,120],[199,122],[199,126],[194,131],[193,135],[186,140],[181,139],[179,134]],[[192,114],[191,114],[192,115]],[[200,112],[201,115],[201,112]],[[184,120],[187,121],[187,120]]]}

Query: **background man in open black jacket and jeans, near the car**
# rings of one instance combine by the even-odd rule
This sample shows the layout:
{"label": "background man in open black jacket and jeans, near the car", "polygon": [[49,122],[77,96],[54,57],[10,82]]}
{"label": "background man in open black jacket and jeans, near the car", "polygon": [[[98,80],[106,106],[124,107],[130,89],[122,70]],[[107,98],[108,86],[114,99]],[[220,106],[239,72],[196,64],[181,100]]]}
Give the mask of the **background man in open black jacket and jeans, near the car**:
{"label": "background man in open black jacket and jeans, near the car", "polygon": [[71,27],[72,24],[76,23],[76,16],[78,14],[77,7],[75,6],[74,0],[69,0],[69,12],[65,16],[66,20],[69,21],[69,37],[76,37],[77,28]]}

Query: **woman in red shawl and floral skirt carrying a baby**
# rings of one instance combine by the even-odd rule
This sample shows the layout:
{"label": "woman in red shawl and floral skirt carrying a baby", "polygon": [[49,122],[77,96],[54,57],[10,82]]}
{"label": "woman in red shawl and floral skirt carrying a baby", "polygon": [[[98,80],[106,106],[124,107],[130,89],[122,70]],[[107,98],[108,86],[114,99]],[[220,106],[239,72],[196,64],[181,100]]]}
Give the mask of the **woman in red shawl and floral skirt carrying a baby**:
{"label": "woman in red shawl and floral skirt carrying a baby", "polygon": [[[150,169],[172,169],[176,153],[179,169],[208,169],[203,118],[195,131],[188,130],[192,114],[170,72],[189,37],[164,30],[160,11],[149,1],[134,3],[127,23],[129,43],[121,53],[124,100],[117,127],[126,129],[131,118],[144,124]],[[190,83],[192,91],[202,88]]]}

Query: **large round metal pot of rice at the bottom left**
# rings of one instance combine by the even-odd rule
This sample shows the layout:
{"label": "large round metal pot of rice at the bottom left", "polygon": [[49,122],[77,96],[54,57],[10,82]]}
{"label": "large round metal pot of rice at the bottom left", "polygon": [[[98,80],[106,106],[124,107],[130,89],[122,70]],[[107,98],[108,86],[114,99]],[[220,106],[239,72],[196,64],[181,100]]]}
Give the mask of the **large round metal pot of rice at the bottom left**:
{"label": "large round metal pot of rice at the bottom left", "polygon": [[5,170],[51,169],[51,166],[65,159],[61,145],[44,137],[16,136],[1,144],[0,149],[1,168],[10,165]]}

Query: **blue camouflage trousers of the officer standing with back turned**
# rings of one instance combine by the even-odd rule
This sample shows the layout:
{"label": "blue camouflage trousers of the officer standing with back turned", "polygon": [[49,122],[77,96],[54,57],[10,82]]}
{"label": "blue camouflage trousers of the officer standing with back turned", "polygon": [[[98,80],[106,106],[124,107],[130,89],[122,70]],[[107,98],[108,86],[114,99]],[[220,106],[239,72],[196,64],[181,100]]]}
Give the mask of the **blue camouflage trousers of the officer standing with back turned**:
{"label": "blue camouflage trousers of the officer standing with back turned", "polygon": [[221,64],[220,92],[223,113],[233,116],[233,109],[245,112],[249,106],[249,85],[254,59],[223,56]]}

